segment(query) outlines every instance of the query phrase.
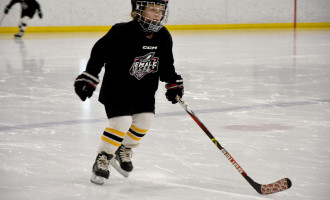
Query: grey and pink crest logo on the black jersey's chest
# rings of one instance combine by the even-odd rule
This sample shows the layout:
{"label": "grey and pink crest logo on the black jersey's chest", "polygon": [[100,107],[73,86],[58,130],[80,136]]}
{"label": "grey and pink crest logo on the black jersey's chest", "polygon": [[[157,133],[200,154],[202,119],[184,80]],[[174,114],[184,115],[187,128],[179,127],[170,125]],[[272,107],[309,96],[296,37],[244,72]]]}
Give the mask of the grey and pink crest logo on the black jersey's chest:
{"label": "grey and pink crest logo on the black jersey's chest", "polygon": [[145,75],[156,73],[158,71],[159,58],[154,57],[155,52],[148,53],[144,56],[136,57],[129,70],[129,73],[141,80]]}

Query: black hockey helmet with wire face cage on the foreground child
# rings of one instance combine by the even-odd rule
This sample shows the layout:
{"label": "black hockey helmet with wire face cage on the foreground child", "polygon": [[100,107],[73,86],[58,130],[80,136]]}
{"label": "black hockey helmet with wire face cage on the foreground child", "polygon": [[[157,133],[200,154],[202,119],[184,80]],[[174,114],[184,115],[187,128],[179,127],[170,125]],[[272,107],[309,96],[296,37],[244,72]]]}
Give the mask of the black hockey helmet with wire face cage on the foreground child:
{"label": "black hockey helmet with wire face cage on the foreground child", "polygon": [[[158,32],[166,23],[168,16],[168,0],[131,0],[131,4],[132,16],[139,22],[142,30],[147,35],[150,35],[153,32]],[[152,20],[144,17],[142,13],[147,7],[161,9],[161,20]]]}

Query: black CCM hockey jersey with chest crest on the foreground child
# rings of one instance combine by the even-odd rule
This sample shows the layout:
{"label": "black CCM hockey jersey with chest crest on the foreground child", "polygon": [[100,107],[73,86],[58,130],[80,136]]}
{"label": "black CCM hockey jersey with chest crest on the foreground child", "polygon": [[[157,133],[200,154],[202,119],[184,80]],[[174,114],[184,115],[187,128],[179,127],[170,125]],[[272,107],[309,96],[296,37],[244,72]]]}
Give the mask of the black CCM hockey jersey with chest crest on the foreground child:
{"label": "black CCM hockey jersey with chest crest on the foreground child", "polygon": [[135,21],[114,25],[96,42],[86,67],[94,76],[105,67],[99,101],[131,113],[154,110],[159,80],[177,78],[172,46],[165,27],[148,39]]}

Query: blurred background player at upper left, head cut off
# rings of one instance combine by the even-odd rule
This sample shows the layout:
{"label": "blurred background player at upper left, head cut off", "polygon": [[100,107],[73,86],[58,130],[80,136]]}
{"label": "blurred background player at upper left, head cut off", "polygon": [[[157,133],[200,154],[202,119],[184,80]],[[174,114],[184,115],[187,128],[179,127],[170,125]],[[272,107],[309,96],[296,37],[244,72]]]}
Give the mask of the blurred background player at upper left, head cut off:
{"label": "blurred background player at upper left, head cut off", "polygon": [[27,23],[30,19],[33,18],[36,11],[38,11],[38,16],[41,19],[42,18],[42,12],[40,9],[40,5],[35,0],[12,0],[5,8],[4,13],[8,14],[11,7],[16,4],[20,3],[22,7],[21,12],[21,19],[19,22],[19,32],[15,34],[15,37],[22,37],[24,34],[24,31],[26,29]]}

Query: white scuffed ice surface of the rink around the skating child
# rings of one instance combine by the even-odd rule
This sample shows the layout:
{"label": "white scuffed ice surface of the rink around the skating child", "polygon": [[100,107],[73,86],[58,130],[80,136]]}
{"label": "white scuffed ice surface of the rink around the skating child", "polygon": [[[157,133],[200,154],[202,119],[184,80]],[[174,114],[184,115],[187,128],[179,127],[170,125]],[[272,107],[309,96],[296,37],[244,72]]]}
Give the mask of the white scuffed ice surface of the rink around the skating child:
{"label": "white scuffed ice surface of the rink around the skating child", "polygon": [[[289,177],[262,196],[179,105],[157,114],[135,170],[90,183],[103,106],[73,80],[103,33],[0,34],[0,199],[330,198],[330,30],[172,31],[184,100],[248,175]],[[102,78],[102,76],[101,76]]]}

